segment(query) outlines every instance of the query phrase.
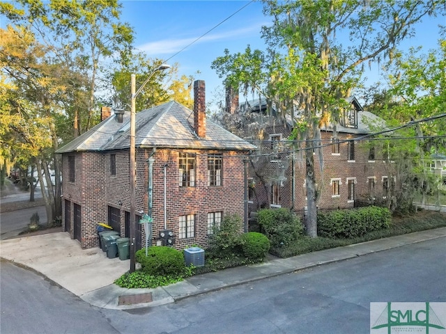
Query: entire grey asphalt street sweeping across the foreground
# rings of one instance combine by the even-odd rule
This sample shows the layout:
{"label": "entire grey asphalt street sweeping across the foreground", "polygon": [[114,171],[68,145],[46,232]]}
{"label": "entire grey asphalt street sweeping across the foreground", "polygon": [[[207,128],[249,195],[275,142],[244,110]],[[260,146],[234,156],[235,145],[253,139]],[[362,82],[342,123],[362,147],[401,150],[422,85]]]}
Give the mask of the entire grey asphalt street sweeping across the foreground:
{"label": "entire grey asphalt street sweeping across the foreground", "polygon": [[36,273],[2,262],[0,332],[370,333],[370,302],[446,302],[445,241],[129,311],[94,308]]}

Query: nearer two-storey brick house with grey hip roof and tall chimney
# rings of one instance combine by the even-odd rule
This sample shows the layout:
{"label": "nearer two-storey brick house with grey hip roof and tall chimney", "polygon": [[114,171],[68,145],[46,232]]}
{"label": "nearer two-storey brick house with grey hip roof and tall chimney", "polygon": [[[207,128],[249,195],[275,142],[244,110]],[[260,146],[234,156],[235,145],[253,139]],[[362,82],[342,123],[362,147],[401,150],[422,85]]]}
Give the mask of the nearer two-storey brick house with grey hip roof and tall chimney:
{"label": "nearer two-storey brick house with grey hip roof and tall chimney", "polygon": [[[102,122],[60,148],[63,230],[82,248],[98,246],[98,222],[128,237],[130,113]],[[172,230],[178,249],[206,247],[224,214],[245,215],[245,163],[256,147],[206,120],[205,84],[194,83],[194,110],[168,102],[136,115],[135,212],[148,212],[148,159],[153,162],[153,238]],[[137,214],[136,221],[141,219]],[[137,224],[137,249],[145,240]]]}

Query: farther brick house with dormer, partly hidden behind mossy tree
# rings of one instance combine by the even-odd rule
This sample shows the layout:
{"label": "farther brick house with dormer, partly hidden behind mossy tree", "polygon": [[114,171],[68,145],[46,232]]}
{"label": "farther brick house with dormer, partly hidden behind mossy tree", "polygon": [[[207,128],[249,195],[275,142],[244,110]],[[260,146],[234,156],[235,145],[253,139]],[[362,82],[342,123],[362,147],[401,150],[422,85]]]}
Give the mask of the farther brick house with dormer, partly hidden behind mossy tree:
{"label": "farther brick house with dormer, partly hidden behind mossy tree", "polygon": [[[318,207],[321,209],[349,208],[357,199],[385,198],[393,182],[388,176],[391,161],[385,156],[387,150],[380,147],[380,141],[368,136],[375,132],[375,126],[385,127],[383,120],[364,111],[355,97],[348,102],[351,109],[344,111],[339,123],[322,125],[321,151],[314,152]],[[265,100],[245,102],[240,106],[254,113],[265,113],[267,108]],[[229,107],[226,111],[236,112]],[[291,120],[279,120],[274,105],[270,113],[272,120],[263,138],[259,141],[246,138],[259,148],[254,153],[253,165],[260,165],[258,170],[249,170],[249,212],[261,207],[305,210],[305,151],[293,150],[287,140],[292,130]],[[303,147],[301,143],[300,148]],[[319,154],[323,156],[323,168]]]}

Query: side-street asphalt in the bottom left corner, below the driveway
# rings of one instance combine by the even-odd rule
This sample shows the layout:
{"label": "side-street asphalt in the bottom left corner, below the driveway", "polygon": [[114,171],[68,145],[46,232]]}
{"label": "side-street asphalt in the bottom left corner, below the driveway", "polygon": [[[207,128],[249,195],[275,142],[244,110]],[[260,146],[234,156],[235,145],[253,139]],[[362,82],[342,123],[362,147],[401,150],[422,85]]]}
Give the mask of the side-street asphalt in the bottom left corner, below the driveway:
{"label": "side-street asphalt in the bottom left corner, below the driveway", "polygon": [[0,333],[119,333],[88,303],[33,271],[1,261]]}

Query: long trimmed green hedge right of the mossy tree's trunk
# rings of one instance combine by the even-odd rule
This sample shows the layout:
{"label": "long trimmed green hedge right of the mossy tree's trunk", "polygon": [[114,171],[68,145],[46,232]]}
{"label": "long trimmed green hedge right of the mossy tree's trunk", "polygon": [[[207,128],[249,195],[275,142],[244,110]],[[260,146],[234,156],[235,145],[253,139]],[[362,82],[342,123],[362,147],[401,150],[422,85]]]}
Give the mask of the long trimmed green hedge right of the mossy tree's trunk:
{"label": "long trimmed green hedge right of the mossy tree's trunk", "polygon": [[328,238],[361,237],[367,232],[389,228],[392,214],[386,207],[361,207],[318,212],[318,236]]}

